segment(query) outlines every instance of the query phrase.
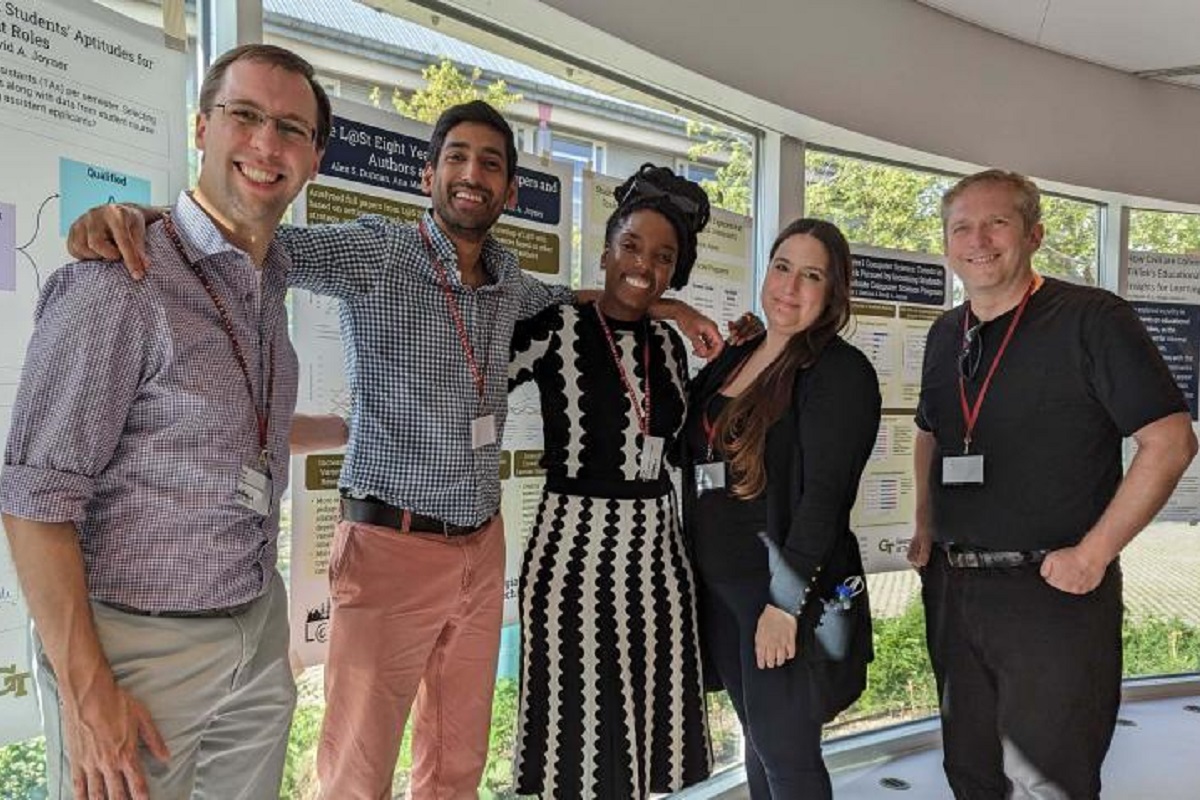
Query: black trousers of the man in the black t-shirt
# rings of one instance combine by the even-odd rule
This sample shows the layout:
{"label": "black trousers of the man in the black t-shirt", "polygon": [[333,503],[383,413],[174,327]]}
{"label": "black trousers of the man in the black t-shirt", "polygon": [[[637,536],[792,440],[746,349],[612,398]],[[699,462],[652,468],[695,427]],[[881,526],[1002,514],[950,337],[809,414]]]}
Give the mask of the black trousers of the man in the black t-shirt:
{"label": "black trousers of the man in the black t-shirt", "polygon": [[1093,800],[1121,703],[1121,567],[1086,595],[1039,565],[922,572],[941,698],[946,776],[958,800]]}

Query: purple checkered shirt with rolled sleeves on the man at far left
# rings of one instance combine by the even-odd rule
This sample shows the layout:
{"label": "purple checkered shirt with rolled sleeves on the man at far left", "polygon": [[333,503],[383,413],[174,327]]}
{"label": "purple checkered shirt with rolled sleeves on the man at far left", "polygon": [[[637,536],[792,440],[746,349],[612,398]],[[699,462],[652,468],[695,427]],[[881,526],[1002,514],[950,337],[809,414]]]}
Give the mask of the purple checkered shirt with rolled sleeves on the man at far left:
{"label": "purple checkered shirt with rolled sleeves on the man at far left", "polygon": [[173,218],[224,301],[259,409],[274,344],[272,513],[235,500],[241,467],[258,461],[254,405],[212,300],[162,223],[146,235],[144,281],[101,263],[47,281],[0,473],[5,513],[76,524],[92,599],[151,612],[266,590],[298,375],[284,251],[271,245],[259,288],[248,255],[186,193]]}

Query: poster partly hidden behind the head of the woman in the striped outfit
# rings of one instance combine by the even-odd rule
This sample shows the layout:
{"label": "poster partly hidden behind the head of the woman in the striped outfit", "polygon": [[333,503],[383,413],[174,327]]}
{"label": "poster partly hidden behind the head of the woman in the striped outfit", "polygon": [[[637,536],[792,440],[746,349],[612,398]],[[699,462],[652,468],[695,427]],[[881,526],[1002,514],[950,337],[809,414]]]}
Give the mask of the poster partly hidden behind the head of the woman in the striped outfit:
{"label": "poster partly hidden behind the head of the woman in the striped outfit", "polygon": [[[583,174],[580,271],[584,289],[604,288],[600,254],[605,245],[605,223],[617,210],[613,190],[624,181],[624,178]],[[696,265],[688,285],[679,291],[667,291],[665,296],[690,303],[713,319],[722,332],[726,323],[751,311],[757,299],[754,221],[724,209],[713,209],[708,225],[697,237]],[[694,371],[703,366],[695,356],[691,359]]]}

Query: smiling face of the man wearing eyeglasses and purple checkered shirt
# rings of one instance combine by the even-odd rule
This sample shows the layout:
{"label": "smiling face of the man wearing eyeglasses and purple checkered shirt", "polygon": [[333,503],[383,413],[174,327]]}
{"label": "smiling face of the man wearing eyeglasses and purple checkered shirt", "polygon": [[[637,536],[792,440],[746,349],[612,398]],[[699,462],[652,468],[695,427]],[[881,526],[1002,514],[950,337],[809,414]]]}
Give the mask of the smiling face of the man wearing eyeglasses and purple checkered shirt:
{"label": "smiling face of the man wearing eyeglasses and purple checkered shirt", "polygon": [[[308,80],[278,66],[241,60],[229,65],[216,102],[251,107],[274,118],[317,127],[317,100]],[[241,245],[272,234],[283,211],[317,174],[322,151],[308,140],[209,108],[196,118],[196,148],[204,154],[196,199]]]}

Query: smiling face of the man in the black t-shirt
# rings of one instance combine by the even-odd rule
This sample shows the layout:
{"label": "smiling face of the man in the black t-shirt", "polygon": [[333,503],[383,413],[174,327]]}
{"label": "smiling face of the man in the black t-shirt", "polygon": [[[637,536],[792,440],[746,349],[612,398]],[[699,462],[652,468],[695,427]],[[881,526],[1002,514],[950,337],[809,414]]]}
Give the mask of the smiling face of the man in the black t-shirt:
{"label": "smiling face of the man in the black t-shirt", "polygon": [[1012,187],[976,184],[947,209],[946,261],[972,299],[1019,294],[1033,277],[1042,235],[1042,223],[1026,227]]}

